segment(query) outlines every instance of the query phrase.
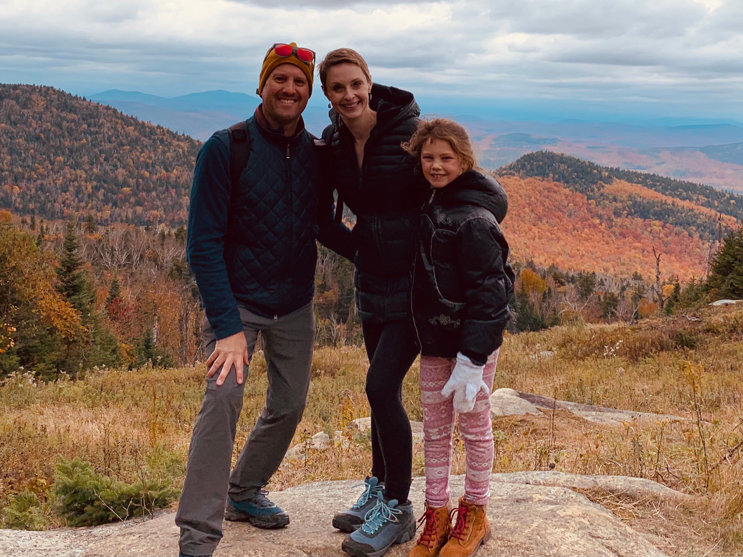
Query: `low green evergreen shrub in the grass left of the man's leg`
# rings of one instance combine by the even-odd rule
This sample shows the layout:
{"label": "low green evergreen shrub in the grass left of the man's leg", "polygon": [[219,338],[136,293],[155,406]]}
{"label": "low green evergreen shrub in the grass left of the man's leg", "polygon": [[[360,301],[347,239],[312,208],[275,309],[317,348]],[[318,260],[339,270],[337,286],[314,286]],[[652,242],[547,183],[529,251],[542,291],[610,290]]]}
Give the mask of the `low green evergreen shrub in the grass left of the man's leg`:
{"label": "low green evergreen shrub in the grass left of the man's leg", "polygon": [[95,526],[123,521],[152,513],[178,498],[172,478],[149,478],[146,470],[140,480],[123,483],[94,471],[80,458],[59,457],[54,477],[57,512],[70,526]]}

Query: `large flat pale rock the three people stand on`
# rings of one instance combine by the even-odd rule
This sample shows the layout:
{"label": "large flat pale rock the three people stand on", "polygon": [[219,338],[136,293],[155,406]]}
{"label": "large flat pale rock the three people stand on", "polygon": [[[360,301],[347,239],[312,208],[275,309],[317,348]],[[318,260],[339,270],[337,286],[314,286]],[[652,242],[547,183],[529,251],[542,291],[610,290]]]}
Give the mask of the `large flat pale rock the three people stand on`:
{"label": "large flat pale rock the three people stand on", "polygon": [[[478,551],[479,556],[663,555],[643,535],[580,493],[565,487],[505,483],[497,476],[493,476],[487,511],[493,539]],[[357,484],[354,480],[317,482],[273,493],[274,501],[290,513],[291,524],[284,530],[266,531],[227,522],[215,556],[342,556],[343,534],[333,530],[330,521],[334,512],[356,500]],[[417,514],[424,508],[423,488],[424,479],[415,478],[410,498]],[[452,497],[463,489],[464,478],[452,477]],[[176,556],[178,528],[173,517],[170,513],[140,523],[53,532],[1,530],[0,554]],[[33,547],[9,532],[34,535],[37,540],[55,536],[55,541]],[[394,547],[388,555],[406,556],[411,545]]]}

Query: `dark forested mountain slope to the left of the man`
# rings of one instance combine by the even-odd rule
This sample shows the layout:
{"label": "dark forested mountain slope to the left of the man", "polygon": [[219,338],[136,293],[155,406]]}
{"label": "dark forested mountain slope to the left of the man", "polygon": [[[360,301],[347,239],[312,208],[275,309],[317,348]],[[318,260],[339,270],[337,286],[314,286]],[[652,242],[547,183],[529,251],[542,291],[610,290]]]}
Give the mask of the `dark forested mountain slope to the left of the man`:
{"label": "dark forested mountain slope to the left of the man", "polygon": [[51,87],[0,84],[0,206],[182,224],[197,140]]}

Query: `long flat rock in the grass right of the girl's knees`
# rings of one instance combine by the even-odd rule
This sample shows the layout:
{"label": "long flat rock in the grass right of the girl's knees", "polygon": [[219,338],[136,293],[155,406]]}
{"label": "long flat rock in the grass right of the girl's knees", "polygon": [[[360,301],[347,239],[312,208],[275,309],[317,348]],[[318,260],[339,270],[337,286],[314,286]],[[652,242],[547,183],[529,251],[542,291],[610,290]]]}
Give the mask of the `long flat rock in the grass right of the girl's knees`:
{"label": "long flat rock in the grass right of the girl's knees", "polygon": [[584,420],[617,426],[626,422],[641,420],[685,421],[687,418],[669,414],[652,414],[618,408],[606,408],[590,404],[571,403],[568,400],[554,400],[539,394],[523,393],[512,388],[499,388],[490,395],[490,414],[495,416],[543,415],[553,410],[567,410]]}

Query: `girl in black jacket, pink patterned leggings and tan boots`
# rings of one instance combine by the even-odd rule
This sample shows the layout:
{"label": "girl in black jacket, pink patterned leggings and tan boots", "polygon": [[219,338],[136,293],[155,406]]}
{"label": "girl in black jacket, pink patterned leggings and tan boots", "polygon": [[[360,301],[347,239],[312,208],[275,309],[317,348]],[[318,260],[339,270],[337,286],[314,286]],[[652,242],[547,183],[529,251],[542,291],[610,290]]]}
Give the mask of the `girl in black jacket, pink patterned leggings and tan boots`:
{"label": "girl in black jacket, pink patterned leggings and tan boots", "polygon": [[[459,124],[421,121],[403,147],[420,161],[432,186],[416,233],[411,287],[421,343],[426,512],[421,517],[424,530],[410,555],[470,556],[490,539],[485,515],[493,470],[489,397],[514,281],[499,227],[507,199],[493,177],[478,172],[469,137]],[[455,411],[467,475],[452,530],[449,474]]]}

